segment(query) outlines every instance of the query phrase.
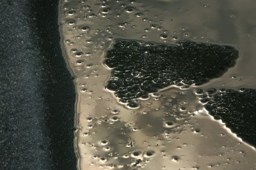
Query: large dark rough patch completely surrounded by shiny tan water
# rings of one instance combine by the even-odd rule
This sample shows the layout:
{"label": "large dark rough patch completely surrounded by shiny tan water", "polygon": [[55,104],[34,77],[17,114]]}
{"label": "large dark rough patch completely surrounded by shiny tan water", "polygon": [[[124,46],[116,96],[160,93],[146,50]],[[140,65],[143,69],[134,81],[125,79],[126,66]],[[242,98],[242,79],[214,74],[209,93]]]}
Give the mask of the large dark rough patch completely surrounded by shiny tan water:
{"label": "large dark rough patch completely surrounded by shiny tan water", "polygon": [[132,108],[138,106],[132,99],[147,98],[169,85],[186,88],[218,78],[235,65],[237,57],[238,50],[227,45],[117,40],[104,62],[112,68],[106,88]]}

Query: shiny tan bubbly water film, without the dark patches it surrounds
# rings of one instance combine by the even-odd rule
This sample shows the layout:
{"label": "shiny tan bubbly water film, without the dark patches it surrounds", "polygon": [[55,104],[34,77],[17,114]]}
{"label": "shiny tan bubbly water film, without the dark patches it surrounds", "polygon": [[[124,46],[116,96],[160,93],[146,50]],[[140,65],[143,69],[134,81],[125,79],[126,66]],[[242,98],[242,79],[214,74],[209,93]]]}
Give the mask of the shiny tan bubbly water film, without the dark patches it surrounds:
{"label": "shiny tan bubbly water film, without the dark patches it surrounds", "polygon": [[[214,120],[195,94],[255,89],[255,3],[60,1],[61,45],[77,92],[77,169],[255,169],[255,148]],[[106,89],[113,69],[104,62],[116,39],[166,45],[189,39],[234,46],[239,57],[221,77],[158,89],[130,109]]]}

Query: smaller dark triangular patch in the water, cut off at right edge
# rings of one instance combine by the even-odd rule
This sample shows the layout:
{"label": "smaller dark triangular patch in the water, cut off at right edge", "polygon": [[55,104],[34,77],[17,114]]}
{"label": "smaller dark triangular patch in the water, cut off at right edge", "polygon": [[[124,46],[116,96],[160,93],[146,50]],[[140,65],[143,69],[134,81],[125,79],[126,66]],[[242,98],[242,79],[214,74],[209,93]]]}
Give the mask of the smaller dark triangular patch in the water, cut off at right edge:
{"label": "smaller dark triangular patch in the water, cut off at right edge", "polygon": [[206,110],[217,120],[221,119],[232,132],[256,146],[256,90],[209,89],[200,96]]}

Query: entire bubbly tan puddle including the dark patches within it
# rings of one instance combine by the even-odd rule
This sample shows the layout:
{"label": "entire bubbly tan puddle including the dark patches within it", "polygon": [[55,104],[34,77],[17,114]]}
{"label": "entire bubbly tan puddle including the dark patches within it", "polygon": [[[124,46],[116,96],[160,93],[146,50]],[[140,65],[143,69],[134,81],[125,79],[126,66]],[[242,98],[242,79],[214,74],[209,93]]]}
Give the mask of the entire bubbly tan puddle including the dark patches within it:
{"label": "entire bubbly tan puddle including the dark patches within it", "polygon": [[255,169],[253,6],[61,0],[77,169]]}

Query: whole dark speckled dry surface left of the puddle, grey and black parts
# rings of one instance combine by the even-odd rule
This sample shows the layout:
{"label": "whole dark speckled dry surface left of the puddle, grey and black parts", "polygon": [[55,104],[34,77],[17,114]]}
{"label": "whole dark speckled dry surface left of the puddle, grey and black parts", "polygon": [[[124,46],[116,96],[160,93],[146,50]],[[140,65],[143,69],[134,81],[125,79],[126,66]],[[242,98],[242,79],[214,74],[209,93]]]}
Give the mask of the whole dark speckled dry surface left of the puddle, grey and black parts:
{"label": "whole dark speckled dry surface left of the puddle, grey and black parts", "polygon": [[58,1],[0,2],[0,169],[76,169]]}

